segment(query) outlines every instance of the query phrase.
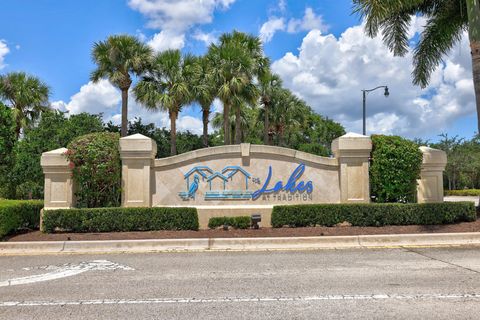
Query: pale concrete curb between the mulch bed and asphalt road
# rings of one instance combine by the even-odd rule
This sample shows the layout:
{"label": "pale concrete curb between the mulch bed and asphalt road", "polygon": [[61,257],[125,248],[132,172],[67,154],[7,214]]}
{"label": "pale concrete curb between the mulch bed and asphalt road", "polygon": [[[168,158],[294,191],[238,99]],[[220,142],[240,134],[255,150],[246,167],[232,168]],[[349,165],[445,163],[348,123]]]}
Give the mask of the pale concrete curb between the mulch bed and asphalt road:
{"label": "pale concrete curb between the mulch bed and asphalt road", "polygon": [[0,242],[0,255],[269,251],[480,245],[480,233]]}

